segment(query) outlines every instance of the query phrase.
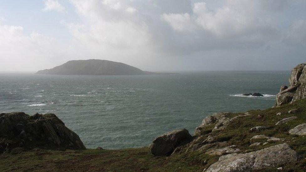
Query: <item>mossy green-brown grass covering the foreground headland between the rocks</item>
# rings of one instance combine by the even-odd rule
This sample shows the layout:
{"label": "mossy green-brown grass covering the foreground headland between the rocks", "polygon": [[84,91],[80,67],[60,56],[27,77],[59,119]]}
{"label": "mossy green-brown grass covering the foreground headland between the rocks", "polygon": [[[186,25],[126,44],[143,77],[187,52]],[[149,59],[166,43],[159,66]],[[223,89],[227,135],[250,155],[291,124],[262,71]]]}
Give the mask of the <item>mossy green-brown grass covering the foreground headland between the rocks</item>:
{"label": "mossy green-brown grass covering the foreground headland between the rocks", "polygon": [[[298,112],[289,114],[288,111],[293,108],[297,108]],[[306,123],[306,100],[293,105],[249,112],[251,116],[234,120],[224,131],[208,133],[207,136],[218,135],[219,141],[228,141],[230,145],[237,145],[241,153],[286,142],[298,152],[299,161],[283,166],[283,171],[306,171],[306,137],[288,134],[289,129]],[[282,115],[277,116],[278,112],[282,112]],[[235,113],[233,117],[239,114],[243,113]],[[297,116],[298,119],[279,126],[275,125],[277,121],[291,116]],[[262,125],[272,128],[261,132],[249,132],[250,128]],[[211,130],[212,127],[207,127],[207,130]],[[250,138],[260,134],[282,138],[284,141],[250,148]],[[202,152],[184,152],[181,151],[170,157],[154,157],[148,148],[83,151],[33,149],[26,152],[16,149],[10,154],[0,155],[0,169],[1,171],[202,171],[218,159],[216,156]],[[277,171],[277,169],[271,168],[266,171]]]}

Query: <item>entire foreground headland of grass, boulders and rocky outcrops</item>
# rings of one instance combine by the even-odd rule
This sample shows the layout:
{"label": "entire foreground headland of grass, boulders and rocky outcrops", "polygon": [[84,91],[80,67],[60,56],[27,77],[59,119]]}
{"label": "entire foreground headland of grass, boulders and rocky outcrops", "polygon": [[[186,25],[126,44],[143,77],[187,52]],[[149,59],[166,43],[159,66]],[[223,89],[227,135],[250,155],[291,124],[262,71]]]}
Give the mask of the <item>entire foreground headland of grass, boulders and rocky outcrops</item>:
{"label": "entire foreground headland of grass, boulders and rocky outcrops", "polygon": [[54,114],[2,113],[0,169],[306,171],[305,78],[305,65],[294,68],[289,87],[281,87],[275,107],[217,112],[204,118],[193,136],[178,129],[139,149],[84,149],[78,136]]}

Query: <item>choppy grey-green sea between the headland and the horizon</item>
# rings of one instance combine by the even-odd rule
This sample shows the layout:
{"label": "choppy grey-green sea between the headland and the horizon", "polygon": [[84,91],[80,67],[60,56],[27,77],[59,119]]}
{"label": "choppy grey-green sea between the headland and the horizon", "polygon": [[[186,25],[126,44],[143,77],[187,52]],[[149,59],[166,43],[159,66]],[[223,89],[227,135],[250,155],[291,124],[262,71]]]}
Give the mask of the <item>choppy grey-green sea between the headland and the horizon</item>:
{"label": "choppy grey-green sea between the headland and the horizon", "polygon": [[[289,71],[146,76],[0,74],[0,112],[55,113],[87,148],[147,146],[218,111],[272,107]],[[265,97],[243,97],[249,92]]]}

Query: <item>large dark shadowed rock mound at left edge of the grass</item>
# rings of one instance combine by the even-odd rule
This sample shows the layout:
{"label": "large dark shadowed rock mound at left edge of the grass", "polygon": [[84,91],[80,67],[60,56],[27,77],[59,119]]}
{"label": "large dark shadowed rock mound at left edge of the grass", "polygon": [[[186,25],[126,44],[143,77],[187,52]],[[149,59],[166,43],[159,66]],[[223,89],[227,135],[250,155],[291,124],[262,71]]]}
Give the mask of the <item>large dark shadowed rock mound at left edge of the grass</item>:
{"label": "large dark shadowed rock mound at left edge of the grass", "polygon": [[0,153],[13,148],[85,149],[79,136],[54,114],[0,114]]}

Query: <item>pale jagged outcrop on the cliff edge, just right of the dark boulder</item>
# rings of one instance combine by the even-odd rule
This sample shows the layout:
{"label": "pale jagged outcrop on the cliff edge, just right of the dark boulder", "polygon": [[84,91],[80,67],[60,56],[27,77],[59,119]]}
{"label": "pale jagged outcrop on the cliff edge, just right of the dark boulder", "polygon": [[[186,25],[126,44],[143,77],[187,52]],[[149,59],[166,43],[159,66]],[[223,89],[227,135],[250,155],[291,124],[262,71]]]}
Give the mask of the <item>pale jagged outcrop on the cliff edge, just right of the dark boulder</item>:
{"label": "pale jagged outcrop on the cliff edge, just right of the dark boulder", "polygon": [[209,126],[212,124],[215,124],[214,130],[224,129],[224,127],[226,127],[229,124],[230,114],[231,113],[229,112],[218,112],[218,113],[214,113],[213,115],[204,118],[202,121],[202,124],[195,129],[194,134],[200,135],[206,126]]}

